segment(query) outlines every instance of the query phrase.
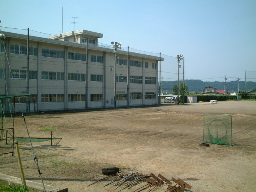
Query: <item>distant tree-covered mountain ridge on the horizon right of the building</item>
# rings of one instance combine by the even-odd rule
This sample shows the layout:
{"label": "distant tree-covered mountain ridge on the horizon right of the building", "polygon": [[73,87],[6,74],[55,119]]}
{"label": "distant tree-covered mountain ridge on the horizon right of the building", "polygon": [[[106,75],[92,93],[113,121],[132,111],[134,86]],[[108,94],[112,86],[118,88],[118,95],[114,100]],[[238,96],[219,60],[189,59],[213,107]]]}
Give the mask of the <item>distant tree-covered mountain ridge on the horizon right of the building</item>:
{"label": "distant tree-covered mountain ridge on the horizon right of the building", "polygon": [[[180,85],[183,81],[180,81]],[[244,81],[239,81],[239,90],[244,91]],[[201,80],[185,80],[185,84],[188,84],[188,89],[190,92],[202,92],[204,87],[216,87],[217,90],[224,90],[225,82],[220,81],[201,81]],[[163,81],[162,90],[171,90],[174,85],[178,85],[178,81]],[[256,88],[256,82],[246,82],[246,91],[251,91]],[[228,92],[237,92],[238,90],[238,81],[229,81],[226,82],[226,90]]]}

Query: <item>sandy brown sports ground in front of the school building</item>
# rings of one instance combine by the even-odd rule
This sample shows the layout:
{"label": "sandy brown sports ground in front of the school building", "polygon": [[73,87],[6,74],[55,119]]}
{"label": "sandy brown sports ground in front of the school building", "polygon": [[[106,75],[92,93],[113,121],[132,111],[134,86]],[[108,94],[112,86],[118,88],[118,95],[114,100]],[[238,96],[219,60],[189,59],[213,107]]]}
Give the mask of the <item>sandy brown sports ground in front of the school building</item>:
{"label": "sandy brown sports ground in front of the school building", "polygon": [[[199,146],[204,113],[232,115],[234,146]],[[70,192],[110,192],[101,169],[117,166],[124,172],[181,178],[192,192],[256,191],[256,101],[98,110],[26,116],[31,137],[50,137],[42,128],[56,128],[56,146],[33,142],[44,184]],[[24,121],[15,119],[15,136],[27,136]],[[55,141],[54,141],[55,142]],[[4,150],[5,145],[0,145]],[[19,142],[26,179],[40,182],[29,143]],[[10,146],[9,146],[10,147]],[[15,155],[0,156],[0,173],[20,177]],[[124,192],[133,192],[138,187]],[[164,192],[160,188],[157,192]],[[144,190],[146,191],[146,190]]]}

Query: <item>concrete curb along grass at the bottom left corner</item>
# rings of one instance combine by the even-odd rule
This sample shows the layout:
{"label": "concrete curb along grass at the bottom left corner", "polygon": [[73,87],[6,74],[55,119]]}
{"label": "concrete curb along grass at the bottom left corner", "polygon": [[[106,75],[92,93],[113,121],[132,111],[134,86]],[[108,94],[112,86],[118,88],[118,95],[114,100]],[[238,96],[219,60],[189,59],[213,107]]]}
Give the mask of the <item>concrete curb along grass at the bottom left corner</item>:
{"label": "concrete curb along grass at the bottom left corner", "polygon": [[[21,178],[13,177],[5,174],[0,173],[0,181],[5,185],[23,185]],[[56,188],[50,185],[44,185],[41,183],[33,182],[26,180],[26,184],[28,189],[31,192],[45,192],[44,187],[46,189],[46,192],[68,192],[68,188]]]}

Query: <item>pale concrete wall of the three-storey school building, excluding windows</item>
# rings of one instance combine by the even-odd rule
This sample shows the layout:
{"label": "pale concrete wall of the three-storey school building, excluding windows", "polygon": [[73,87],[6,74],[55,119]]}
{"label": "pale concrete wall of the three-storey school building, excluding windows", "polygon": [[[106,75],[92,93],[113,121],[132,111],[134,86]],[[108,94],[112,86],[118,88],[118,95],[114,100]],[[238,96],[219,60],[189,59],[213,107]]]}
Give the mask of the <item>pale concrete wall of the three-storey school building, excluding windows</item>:
{"label": "pale concrete wall of the three-storey school building, excluding windows", "polygon": [[[78,31],[82,33],[84,30]],[[76,33],[76,32],[75,32]],[[86,31],[90,34],[90,32]],[[72,33],[74,34],[74,32]],[[97,34],[92,32],[90,38],[95,37],[96,43],[98,38],[103,34]],[[6,33],[6,46],[7,55],[10,61],[10,68],[13,70],[26,70],[27,56],[22,54],[10,53],[11,45],[26,46],[26,35]],[[141,93],[141,99],[130,99],[130,106],[157,104],[157,67],[152,68],[152,63],[157,64],[157,57],[130,53],[130,60],[136,60],[142,62],[142,67],[130,66],[130,76],[142,76],[142,84],[130,83],[130,76],[128,76],[127,65],[116,65],[116,71],[114,68],[114,51],[110,48],[102,48],[97,46],[88,45],[88,67],[86,67],[86,61],[68,59],[68,52],[86,54],[86,44],[73,43],[72,41],[66,42],[62,36],[60,40],[51,40],[39,37],[30,37],[29,46],[37,48],[37,56],[29,56],[29,70],[37,72],[37,79],[29,80],[29,94],[37,95],[37,102],[30,103],[30,111],[34,108],[38,110],[65,110],[65,109],[86,109],[86,108],[111,108],[114,107],[112,100],[114,99],[114,77],[126,76],[127,82],[116,82],[116,93],[127,94],[127,99],[130,97],[128,94],[128,84],[130,85],[129,92]],[[79,34],[76,37],[77,42],[81,42],[84,37]],[[71,38],[70,38],[71,39]],[[69,40],[70,40],[69,39]],[[42,49],[57,50],[64,52],[64,58],[51,58],[42,56]],[[91,61],[91,55],[102,56],[102,62]],[[134,56],[136,55],[136,56]],[[117,56],[123,59],[128,58],[127,52],[118,50]],[[5,56],[2,54],[2,61],[5,63],[5,67],[8,67]],[[144,63],[148,62],[148,68],[144,67]],[[0,67],[1,68],[1,67]],[[86,71],[86,68],[88,70]],[[6,70],[6,83],[8,85],[8,94],[24,94],[26,93],[26,79],[12,79],[10,78],[9,70]],[[42,72],[59,72],[64,73],[64,79],[62,80],[50,80],[42,79]],[[86,81],[68,80],[69,73],[86,74],[86,80],[88,90],[86,90]],[[102,75],[102,82],[91,81],[91,74]],[[145,77],[156,77],[156,84],[145,84]],[[0,78],[0,94],[7,94],[4,86],[4,79]],[[14,89],[14,83],[17,93]],[[70,94],[86,94],[87,101],[68,101],[68,95]],[[155,99],[145,99],[146,92],[155,92]],[[64,96],[63,102],[42,102],[42,95],[44,94],[60,94]],[[91,101],[91,94],[101,94],[102,100]],[[87,105],[86,105],[87,104]],[[127,100],[117,100],[118,106],[127,106]],[[26,103],[21,104],[22,110],[26,110]]]}

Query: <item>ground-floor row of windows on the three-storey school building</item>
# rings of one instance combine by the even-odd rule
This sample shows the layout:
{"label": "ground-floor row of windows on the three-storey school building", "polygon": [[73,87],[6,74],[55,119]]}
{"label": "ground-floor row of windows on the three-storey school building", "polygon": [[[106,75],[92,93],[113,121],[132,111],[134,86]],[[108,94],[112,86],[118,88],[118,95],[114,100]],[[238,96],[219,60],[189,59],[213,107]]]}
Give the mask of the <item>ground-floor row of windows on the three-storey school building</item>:
{"label": "ground-floor row of windows on the three-storey school building", "polygon": [[[36,94],[29,95],[29,101],[30,103],[37,102]],[[156,93],[154,92],[146,92],[145,93],[145,99],[155,99]],[[48,103],[48,102],[64,102],[64,94],[42,94],[41,95],[42,103]],[[130,99],[142,99],[142,93],[141,92],[132,92],[130,93]],[[79,102],[79,101],[85,101],[86,96],[85,94],[68,94],[68,102]],[[127,100],[127,94],[116,94],[116,100]],[[91,94],[90,95],[90,101],[102,101],[102,94]],[[26,103],[27,97],[15,97],[12,98],[12,102],[15,103]]]}

